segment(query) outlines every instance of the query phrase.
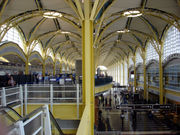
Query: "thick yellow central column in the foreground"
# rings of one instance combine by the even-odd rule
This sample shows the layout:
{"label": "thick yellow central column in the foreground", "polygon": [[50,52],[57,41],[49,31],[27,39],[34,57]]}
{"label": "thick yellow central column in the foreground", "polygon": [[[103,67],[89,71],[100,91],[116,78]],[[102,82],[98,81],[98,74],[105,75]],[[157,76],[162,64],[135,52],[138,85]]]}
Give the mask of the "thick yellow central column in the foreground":
{"label": "thick yellow central column in the foreground", "polygon": [[83,79],[85,79],[85,91],[86,91],[86,107],[90,117],[90,134],[94,134],[94,48],[93,48],[93,21],[86,18],[83,21],[83,63],[84,73]]}

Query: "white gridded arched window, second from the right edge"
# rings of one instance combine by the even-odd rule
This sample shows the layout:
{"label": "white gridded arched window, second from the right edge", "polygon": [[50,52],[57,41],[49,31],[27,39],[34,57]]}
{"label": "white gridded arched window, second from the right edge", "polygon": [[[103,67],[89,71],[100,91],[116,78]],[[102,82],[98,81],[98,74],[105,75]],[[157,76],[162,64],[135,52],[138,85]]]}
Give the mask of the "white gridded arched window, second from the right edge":
{"label": "white gridded arched window, second from the right edge", "polygon": [[159,61],[159,56],[158,56],[156,50],[154,49],[154,47],[152,46],[152,43],[148,42],[146,62],[149,62],[152,59]]}

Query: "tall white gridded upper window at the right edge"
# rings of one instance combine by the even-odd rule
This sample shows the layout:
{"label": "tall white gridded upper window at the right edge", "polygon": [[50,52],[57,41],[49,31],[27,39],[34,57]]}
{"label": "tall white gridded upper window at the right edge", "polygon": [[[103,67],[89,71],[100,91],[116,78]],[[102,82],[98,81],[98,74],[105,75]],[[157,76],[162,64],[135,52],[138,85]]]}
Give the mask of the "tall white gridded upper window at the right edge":
{"label": "tall white gridded upper window at the right edge", "polygon": [[167,58],[173,53],[180,53],[180,32],[177,28],[171,27],[167,31],[164,42],[164,55],[163,59]]}

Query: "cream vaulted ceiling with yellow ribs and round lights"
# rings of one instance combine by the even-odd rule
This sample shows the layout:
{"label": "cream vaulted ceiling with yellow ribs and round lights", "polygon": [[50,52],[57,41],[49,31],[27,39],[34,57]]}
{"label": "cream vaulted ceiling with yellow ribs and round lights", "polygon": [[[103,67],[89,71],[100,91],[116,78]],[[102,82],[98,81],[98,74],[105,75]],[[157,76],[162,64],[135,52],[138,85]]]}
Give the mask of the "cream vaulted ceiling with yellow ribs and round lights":
{"label": "cream vaulted ceiling with yellow ribs and round lights", "polygon": [[[92,0],[92,8],[95,2],[93,34],[99,65],[124,59],[149,39],[161,41],[171,25],[180,29],[179,0]],[[44,48],[74,61],[82,57],[77,3],[84,10],[83,0],[1,0],[0,25],[16,26],[26,42],[39,40]],[[130,17],[127,11],[141,15]]]}

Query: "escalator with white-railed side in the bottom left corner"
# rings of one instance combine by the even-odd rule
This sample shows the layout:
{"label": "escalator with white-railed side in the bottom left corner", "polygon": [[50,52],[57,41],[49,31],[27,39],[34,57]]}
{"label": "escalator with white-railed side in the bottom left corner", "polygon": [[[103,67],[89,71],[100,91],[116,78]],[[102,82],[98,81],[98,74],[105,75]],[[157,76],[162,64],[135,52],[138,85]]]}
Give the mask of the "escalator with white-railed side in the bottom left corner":
{"label": "escalator with white-railed side in the bottom left corner", "polygon": [[8,135],[64,135],[47,106],[42,106],[25,117],[21,117],[10,107],[1,107],[0,119],[8,127]]}

